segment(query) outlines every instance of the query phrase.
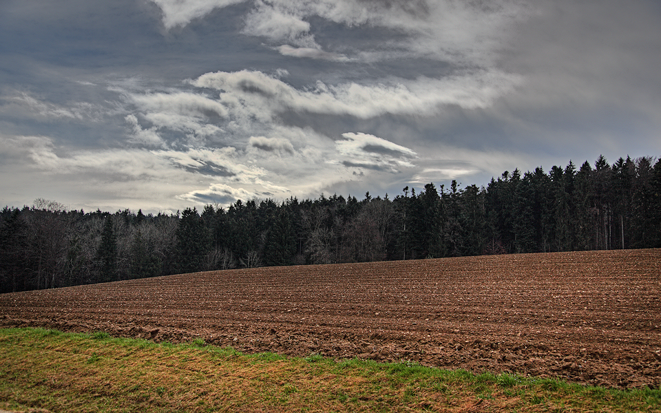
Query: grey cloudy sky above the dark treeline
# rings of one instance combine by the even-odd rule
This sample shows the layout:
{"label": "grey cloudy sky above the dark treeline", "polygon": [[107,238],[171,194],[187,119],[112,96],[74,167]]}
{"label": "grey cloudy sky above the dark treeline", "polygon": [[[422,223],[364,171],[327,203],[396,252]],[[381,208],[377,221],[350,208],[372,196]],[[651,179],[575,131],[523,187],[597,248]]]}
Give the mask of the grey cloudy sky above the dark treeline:
{"label": "grey cloudy sky above the dark treeline", "polygon": [[0,206],[174,212],[661,157],[658,0],[1,0]]}

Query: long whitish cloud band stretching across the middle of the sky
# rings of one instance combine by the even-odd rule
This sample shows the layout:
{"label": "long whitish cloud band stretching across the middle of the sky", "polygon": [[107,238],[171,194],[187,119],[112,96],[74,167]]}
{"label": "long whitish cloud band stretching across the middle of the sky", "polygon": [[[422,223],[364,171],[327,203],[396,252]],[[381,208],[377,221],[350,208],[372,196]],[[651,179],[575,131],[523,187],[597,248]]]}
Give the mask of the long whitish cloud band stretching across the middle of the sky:
{"label": "long whitish cloud band stretching across the middle of the sky", "polygon": [[518,76],[479,70],[439,79],[392,78],[387,84],[373,85],[326,85],[319,81],[313,88],[295,89],[268,74],[242,70],[203,74],[191,84],[221,91],[220,98],[231,111],[240,109],[271,120],[275,112],[287,109],[363,119],[383,114],[429,116],[444,105],[476,109],[491,105],[520,82]]}

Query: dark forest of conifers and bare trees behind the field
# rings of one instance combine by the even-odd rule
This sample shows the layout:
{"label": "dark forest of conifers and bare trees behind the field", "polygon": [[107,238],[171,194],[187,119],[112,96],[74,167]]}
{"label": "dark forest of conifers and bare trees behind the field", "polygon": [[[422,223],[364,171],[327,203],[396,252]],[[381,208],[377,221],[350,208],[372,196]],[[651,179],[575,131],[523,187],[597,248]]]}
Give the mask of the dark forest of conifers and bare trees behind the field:
{"label": "dark forest of conifers and bare trees behind the field", "polygon": [[0,211],[0,293],[258,266],[661,247],[661,160],[600,156],[486,187],[237,200],[144,215],[38,199]]}

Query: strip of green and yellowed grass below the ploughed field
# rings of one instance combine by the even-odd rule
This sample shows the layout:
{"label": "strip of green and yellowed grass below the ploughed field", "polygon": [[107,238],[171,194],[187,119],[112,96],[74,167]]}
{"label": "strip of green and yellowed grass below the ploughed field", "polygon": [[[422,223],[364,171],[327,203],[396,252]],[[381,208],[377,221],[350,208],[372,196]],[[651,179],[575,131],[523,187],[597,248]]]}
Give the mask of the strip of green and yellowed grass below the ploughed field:
{"label": "strip of green and yellowed grass below the ploughed field", "polygon": [[0,409],[661,412],[661,391],[8,328],[0,329]]}

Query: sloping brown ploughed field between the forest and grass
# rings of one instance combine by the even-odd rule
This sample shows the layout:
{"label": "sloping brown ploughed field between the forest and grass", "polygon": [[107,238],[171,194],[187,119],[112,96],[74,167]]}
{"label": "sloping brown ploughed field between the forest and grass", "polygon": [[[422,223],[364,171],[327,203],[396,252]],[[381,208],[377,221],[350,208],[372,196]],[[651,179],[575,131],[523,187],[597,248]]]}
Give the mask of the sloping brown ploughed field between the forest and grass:
{"label": "sloping brown ploughed field between the forest and grass", "polygon": [[257,268],[0,295],[0,326],[661,385],[661,250]]}

